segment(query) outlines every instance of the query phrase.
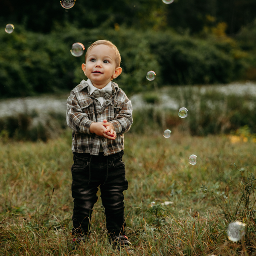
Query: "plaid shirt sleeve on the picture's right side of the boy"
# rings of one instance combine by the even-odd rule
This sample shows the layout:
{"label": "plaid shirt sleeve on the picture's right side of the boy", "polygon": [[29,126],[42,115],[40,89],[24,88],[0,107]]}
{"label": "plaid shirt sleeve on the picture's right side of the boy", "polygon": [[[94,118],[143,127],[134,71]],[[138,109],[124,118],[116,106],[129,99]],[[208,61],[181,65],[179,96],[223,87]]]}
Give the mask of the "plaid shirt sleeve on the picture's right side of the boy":
{"label": "plaid shirt sleeve on the picture's right side of the boy", "polygon": [[116,115],[116,118],[109,122],[113,124],[116,134],[123,134],[129,131],[133,123],[133,119],[131,101],[127,97],[122,104],[122,109]]}

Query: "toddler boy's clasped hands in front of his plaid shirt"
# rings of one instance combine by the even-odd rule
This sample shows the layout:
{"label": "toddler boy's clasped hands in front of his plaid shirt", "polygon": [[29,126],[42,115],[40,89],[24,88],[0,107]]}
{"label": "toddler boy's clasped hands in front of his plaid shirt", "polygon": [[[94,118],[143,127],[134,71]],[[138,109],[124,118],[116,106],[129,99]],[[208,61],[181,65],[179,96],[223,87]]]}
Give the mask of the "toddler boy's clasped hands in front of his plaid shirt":
{"label": "toddler boy's clasped hands in front of his plaid shirt", "polygon": [[104,119],[103,122],[93,122],[90,125],[90,133],[95,133],[101,137],[105,137],[110,140],[116,139],[116,132],[114,130],[114,126],[106,119]]}

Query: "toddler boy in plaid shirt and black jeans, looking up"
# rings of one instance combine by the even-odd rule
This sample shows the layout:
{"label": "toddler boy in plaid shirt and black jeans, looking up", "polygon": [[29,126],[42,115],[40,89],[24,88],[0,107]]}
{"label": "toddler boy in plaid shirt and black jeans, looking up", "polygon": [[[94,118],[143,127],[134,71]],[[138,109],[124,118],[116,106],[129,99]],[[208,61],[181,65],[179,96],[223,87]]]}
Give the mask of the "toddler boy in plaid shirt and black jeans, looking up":
{"label": "toddler boy in plaid shirt and black jeans, looking up", "polygon": [[106,226],[113,244],[131,245],[125,236],[124,133],[132,120],[131,101],[112,82],[122,73],[121,56],[110,41],[99,40],[88,47],[82,80],[67,99],[67,124],[72,128],[73,241],[90,235],[93,205],[101,190]]}

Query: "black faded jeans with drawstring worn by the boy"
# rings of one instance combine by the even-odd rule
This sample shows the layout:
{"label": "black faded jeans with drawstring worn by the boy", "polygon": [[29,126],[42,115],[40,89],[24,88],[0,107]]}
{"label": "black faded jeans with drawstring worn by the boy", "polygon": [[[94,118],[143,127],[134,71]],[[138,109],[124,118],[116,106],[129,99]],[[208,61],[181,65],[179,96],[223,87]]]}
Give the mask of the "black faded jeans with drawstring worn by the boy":
{"label": "black faded jeans with drawstring worn by the boy", "polygon": [[90,219],[100,186],[102,205],[105,208],[106,225],[111,236],[124,235],[124,195],[128,189],[125,178],[123,151],[103,156],[74,153],[72,166],[73,235],[89,235]]}

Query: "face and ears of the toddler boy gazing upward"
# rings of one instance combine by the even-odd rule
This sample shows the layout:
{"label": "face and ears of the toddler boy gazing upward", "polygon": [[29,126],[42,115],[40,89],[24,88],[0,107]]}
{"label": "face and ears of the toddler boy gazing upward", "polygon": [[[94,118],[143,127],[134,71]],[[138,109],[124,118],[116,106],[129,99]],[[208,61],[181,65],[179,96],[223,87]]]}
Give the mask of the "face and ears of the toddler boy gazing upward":
{"label": "face and ears of the toddler boy gazing upward", "polygon": [[116,78],[122,72],[121,67],[116,68],[114,49],[105,44],[99,44],[90,49],[86,63],[82,64],[82,70],[99,89],[105,87],[112,78]]}

